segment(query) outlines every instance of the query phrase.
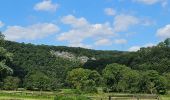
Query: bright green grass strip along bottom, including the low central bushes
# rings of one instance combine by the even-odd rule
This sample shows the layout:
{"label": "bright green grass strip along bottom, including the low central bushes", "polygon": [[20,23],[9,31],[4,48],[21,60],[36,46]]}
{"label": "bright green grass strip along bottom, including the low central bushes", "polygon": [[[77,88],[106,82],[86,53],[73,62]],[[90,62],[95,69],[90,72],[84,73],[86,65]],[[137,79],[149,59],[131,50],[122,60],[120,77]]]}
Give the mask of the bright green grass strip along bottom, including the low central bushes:
{"label": "bright green grass strip along bottom, including the low central bushes", "polygon": [[[0,91],[0,100],[108,100],[108,97],[117,96],[124,100],[132,99],[132,94],[125,93],[81,93],[78,90],[62,89],[60,92],[40,92],[40,91]],[[142,94],[144,95],[144,94]],[[79,96],[79,97],[78,97]],[[76,98],[77,97],[77,98]],[[61,99],[59,99],[61,98]],[[64,99],[62,99],[64,98]],[[71,99],[70,99],[71,98]],[[170,94],[160,95],[161,100],[170,100]],[[151,100],[151,99],[142,99]]]}

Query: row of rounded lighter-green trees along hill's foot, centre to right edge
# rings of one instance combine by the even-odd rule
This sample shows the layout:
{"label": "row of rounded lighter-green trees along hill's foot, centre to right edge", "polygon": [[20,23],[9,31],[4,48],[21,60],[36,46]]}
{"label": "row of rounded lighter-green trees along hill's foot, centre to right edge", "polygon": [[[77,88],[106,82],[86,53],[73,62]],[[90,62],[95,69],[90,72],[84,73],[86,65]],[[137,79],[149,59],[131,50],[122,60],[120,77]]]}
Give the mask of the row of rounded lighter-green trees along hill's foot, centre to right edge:
{"label": "row of rounded lighter-green trees along hill's foot, centre to right edge", "polygon": [[137,71],[117,63],[107,65],[102,74],[83,68],[73,69],[68,73],[70,87],[85,92],[97,92],[103,87],[104,92],[165,94],[168,89],[168,77],[157,71]]}

